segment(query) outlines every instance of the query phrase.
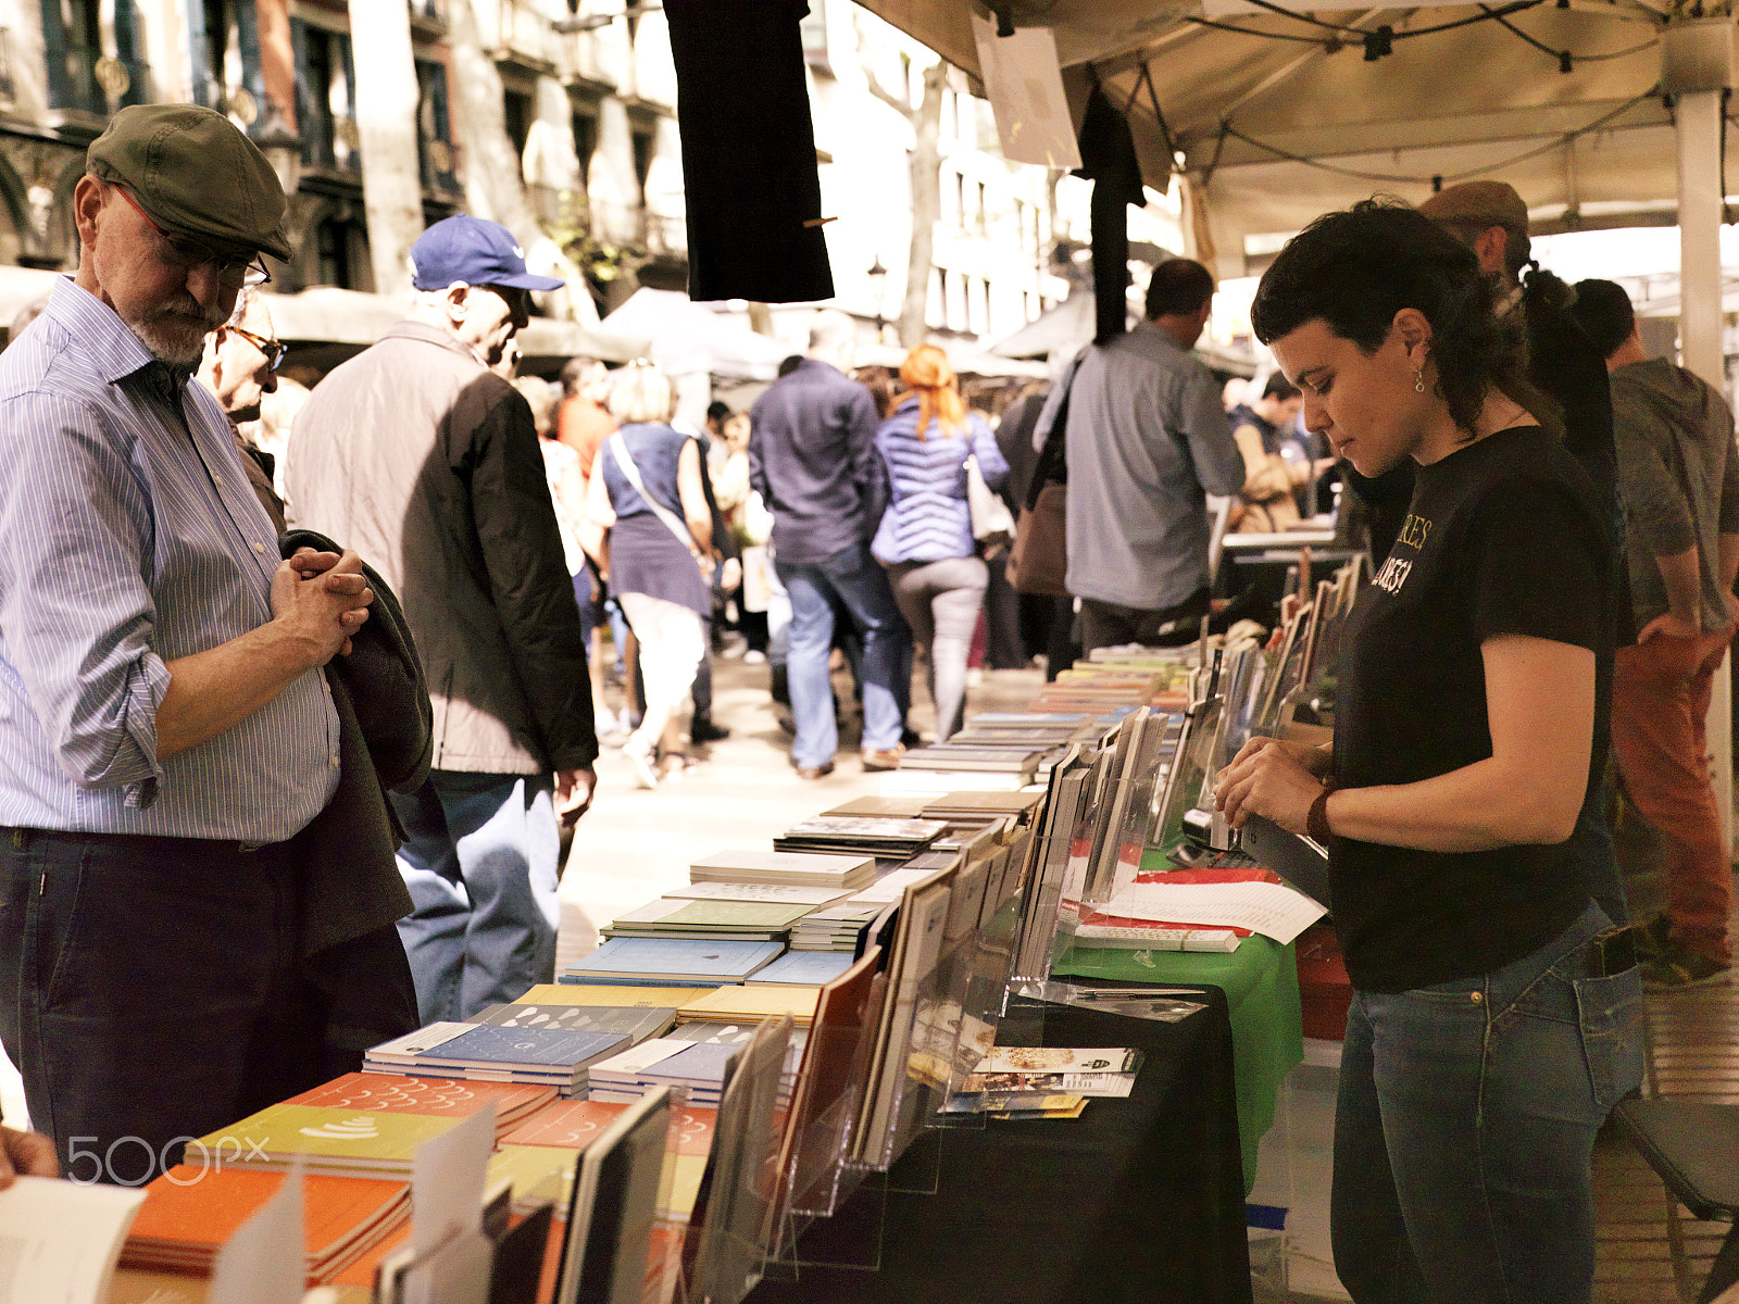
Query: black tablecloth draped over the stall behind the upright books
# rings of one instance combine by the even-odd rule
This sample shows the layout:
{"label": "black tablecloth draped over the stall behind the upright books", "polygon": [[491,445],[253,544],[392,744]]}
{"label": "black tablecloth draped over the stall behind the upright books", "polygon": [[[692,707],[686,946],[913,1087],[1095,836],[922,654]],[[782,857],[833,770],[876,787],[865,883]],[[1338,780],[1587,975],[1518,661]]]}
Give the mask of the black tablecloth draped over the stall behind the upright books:
{"label": "black tablecloth draped over the stall behind the upright books", "polygon": [[1075,1120],[920,1135],[750,1301],[1247,1302],[1231,1024],[1217,988],[1202,1000],[1179,1024],[1014,1001],[1000,1043],[1141,1047],[1134,1094],[1089,1101]]}

